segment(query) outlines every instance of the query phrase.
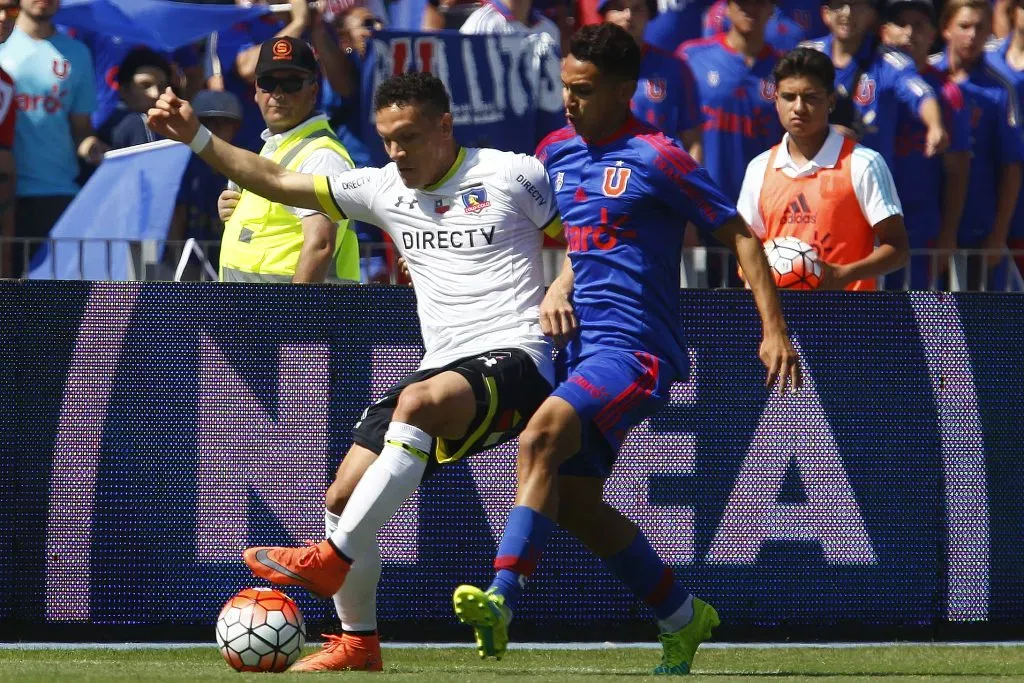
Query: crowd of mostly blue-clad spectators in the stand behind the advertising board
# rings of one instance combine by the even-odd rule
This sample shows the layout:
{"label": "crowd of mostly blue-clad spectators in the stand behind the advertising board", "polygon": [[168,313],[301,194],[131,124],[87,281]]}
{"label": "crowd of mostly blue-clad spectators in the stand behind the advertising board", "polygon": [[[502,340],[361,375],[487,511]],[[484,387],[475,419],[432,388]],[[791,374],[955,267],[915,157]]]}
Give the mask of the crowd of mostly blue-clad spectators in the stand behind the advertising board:
{"label": "crowd of mostly blue-clad spectators in the stand behind the advertising board", "polygon": [[[369,164],[376,141],[360,137],[359,72],[370,36],[387,26],[384,1],[291,0],[285,13],[161,52],[54,25],[59,0],[0,0],[0,236],[45,238],[106,151],[155,139],[144,113],[168,86],[219,136],[258,151],[255,65],[272,37],[313,45],[321,108],[354,163]],[[750,162],[782,134],[774,65],[797,45],[821,50],[840,93],[833,122],[892,169],[911,248],[988,250],[972,283],[1001,288],[999,252],[1024,249],[1024,1],[882,1],[429,0],[422,29],[542,34],[564,46],[583,24],[622,26],[644,51],[635,114],[679,138],[733,200]],[[194,160],[169,239],[216,241],[223,186]],[[370,226],[359,239],[383,241]],[[30,256],[3,249],[0,275],[20,274]],[[912,263],[913,276],[890,286],[941,286],[943,259]],[[388,278],[380,259],[364,266],[367,281]]]}

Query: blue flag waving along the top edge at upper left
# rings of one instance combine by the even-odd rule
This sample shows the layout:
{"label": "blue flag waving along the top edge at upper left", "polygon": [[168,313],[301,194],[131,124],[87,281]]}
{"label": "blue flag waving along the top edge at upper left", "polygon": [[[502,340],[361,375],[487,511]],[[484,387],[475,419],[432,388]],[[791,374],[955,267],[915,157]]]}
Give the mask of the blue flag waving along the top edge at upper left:
{"label": "blue flag waving along the top edge at upper left", "polygon": [[215,31],[270,11],[266,5],[207,5],[172,0],[65,0],[54,20],[105,36],[130,38],[168,52]]}

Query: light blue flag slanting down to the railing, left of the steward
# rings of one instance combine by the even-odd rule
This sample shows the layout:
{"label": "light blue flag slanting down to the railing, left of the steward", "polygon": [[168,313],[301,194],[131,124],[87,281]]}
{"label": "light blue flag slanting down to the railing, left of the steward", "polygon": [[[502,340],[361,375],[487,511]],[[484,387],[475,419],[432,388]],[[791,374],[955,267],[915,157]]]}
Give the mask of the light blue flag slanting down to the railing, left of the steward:
{"label": "light blue flag slanting down to the railing, left of the steward", "polygon": [[[34,280],[129,280],[130,242],[167,239],[191,151],[160,140],[113,152],[50,230]],[[121,242],[112,242],[121,241]]]}

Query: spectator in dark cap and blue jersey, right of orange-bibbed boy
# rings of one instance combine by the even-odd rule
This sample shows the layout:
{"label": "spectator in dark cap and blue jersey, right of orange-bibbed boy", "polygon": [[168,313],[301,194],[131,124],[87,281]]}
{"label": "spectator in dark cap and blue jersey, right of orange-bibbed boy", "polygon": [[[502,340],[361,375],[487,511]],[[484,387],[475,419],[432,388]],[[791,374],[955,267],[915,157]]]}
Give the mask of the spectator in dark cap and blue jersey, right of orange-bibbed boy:
{"label": "spectator in dark cap and blue jersey, right of orange-bibbed boy", "polygon": [[[949,148],[941,157],[925,156],[926,129],[905,104],[899,108],[893,177],[903,205],[910,249],[956,248],[956,229],[964,213],[971,167],[971,112],[959,87],[928,62],[935,44],[937,17],[932,0],[894,0],[886,8],[882,37],[886,46],[902,50],[939,98],[949,133]],[[938,191],[938,188],[942,191]],[[923,290],[939,285],[945,258],[913,256],[910,271],[886,275],[887,289]],[[908,278],[909,274],[909,278]]]}

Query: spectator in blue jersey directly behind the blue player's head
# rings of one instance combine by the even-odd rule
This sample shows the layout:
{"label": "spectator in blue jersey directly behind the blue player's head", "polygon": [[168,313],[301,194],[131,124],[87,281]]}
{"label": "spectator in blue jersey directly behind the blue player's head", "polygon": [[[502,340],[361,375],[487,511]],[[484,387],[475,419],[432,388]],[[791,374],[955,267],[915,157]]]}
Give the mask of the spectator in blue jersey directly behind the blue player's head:
{"label": "spectator in blue jersey directly behind the blue player's head", "polygon": [[601,0],[605,22],[633,36],[640,46],[640,80],[633,93],[633,116],[679,139],[693,154],[700,144],[700,102],[693,72],[671,52],[644,41],[643,33],[657,5],[652,0]]}

